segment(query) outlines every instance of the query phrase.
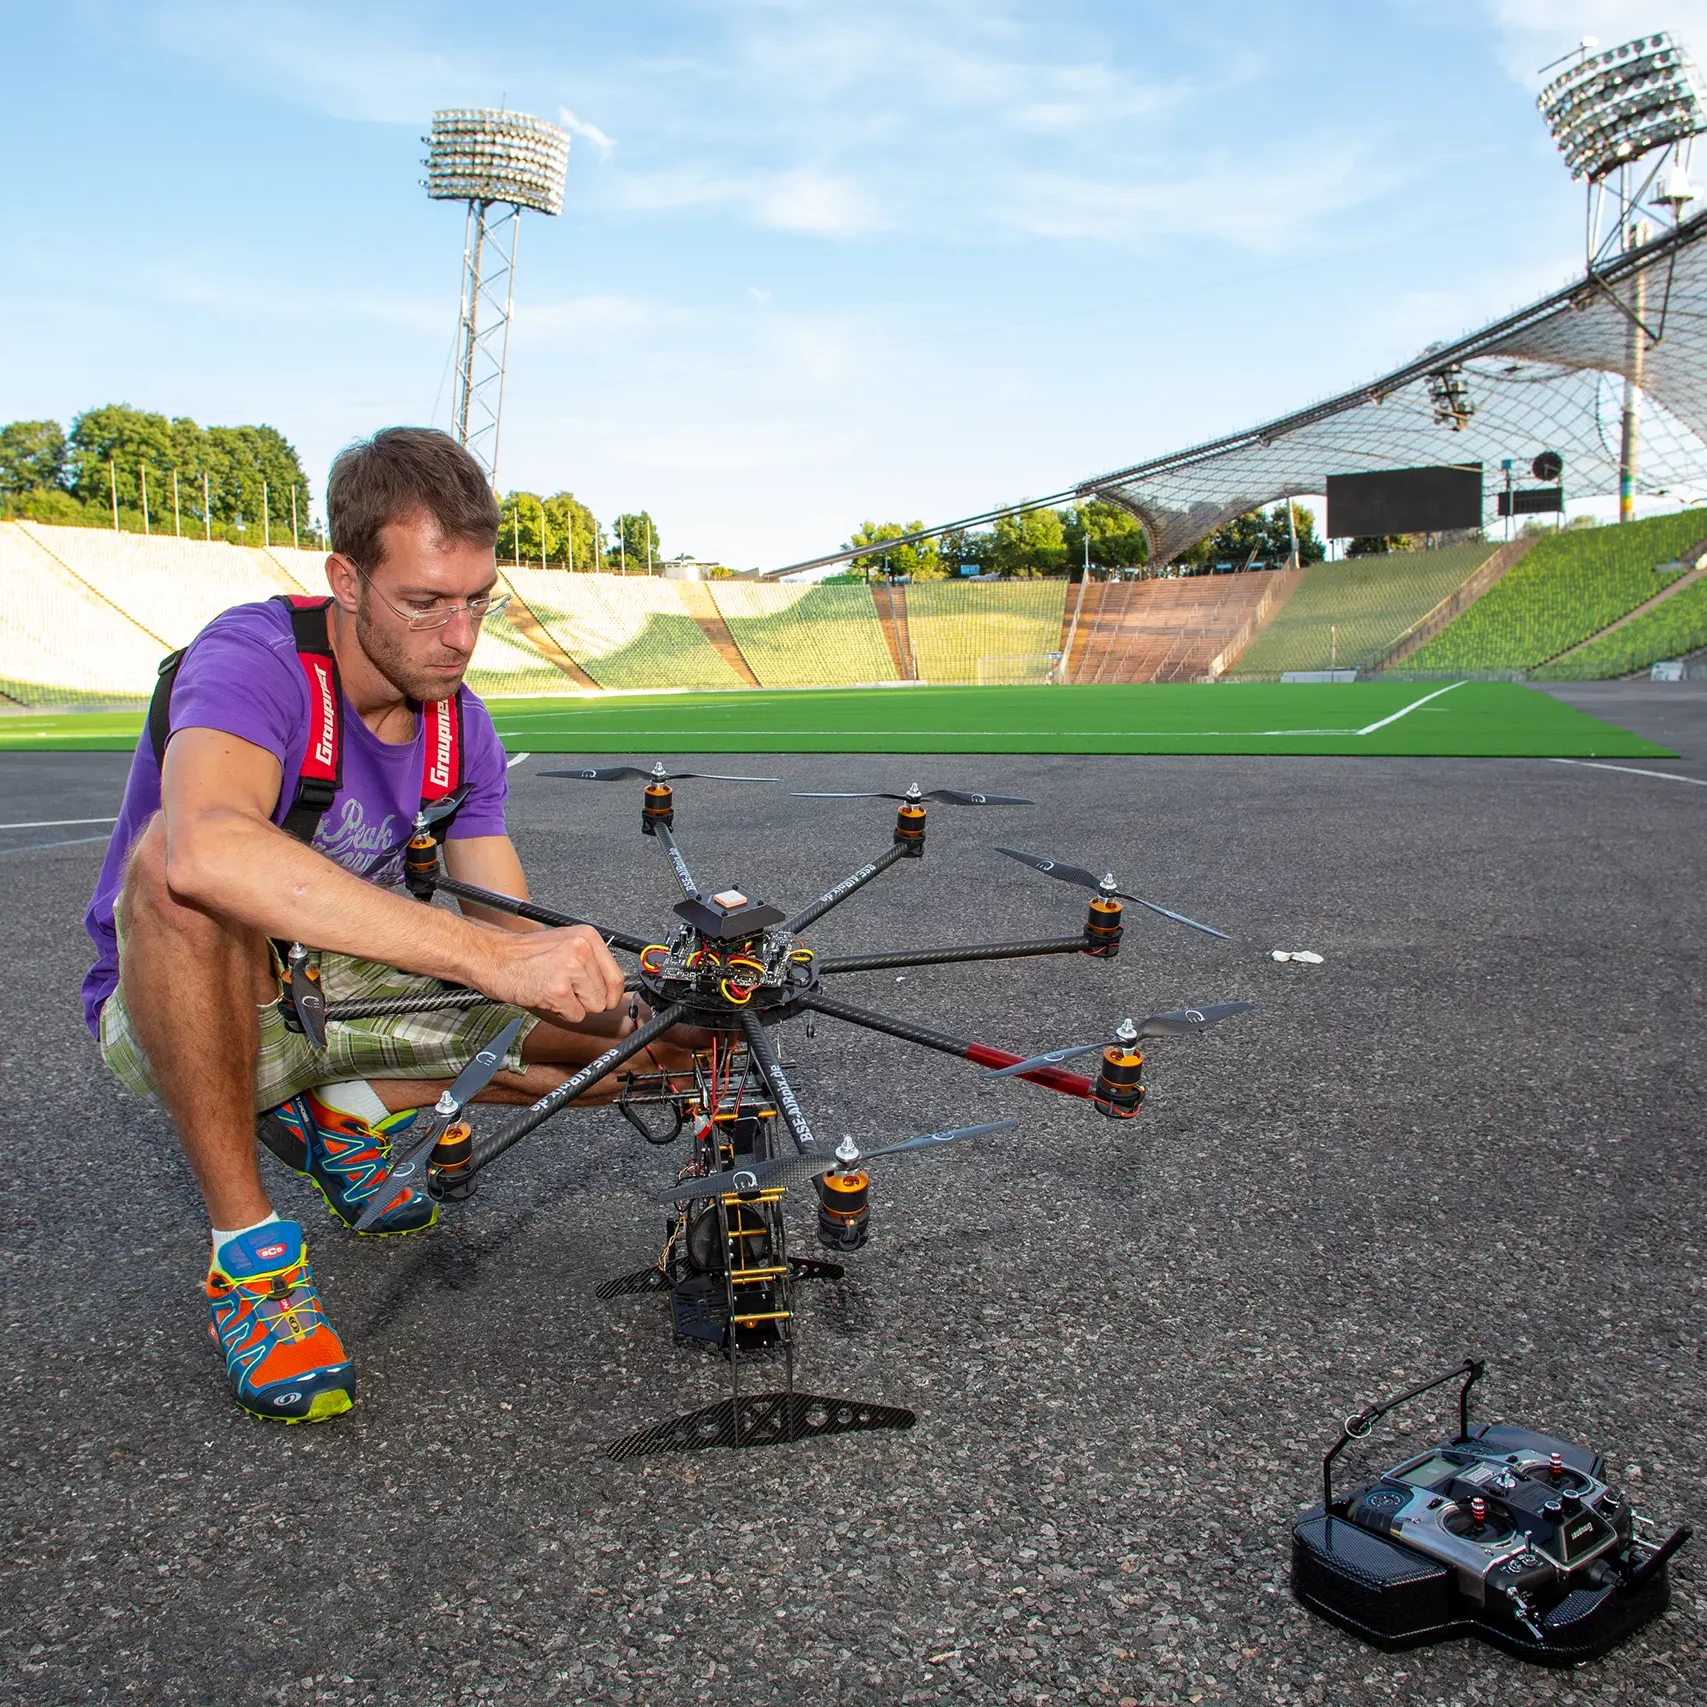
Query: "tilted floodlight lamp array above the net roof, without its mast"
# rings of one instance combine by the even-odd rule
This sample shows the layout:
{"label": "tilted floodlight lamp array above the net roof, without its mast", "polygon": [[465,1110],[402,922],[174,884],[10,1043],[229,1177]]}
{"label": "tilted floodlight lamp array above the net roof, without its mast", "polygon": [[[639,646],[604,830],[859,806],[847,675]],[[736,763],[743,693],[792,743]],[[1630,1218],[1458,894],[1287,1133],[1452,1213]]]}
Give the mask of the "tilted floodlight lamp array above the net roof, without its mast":
{"label": "tilted floodlight lamp array above the net roof, without its mast", "polygon": [[1560,72],[1536,97],[1572,178],[1618,166],[1707,130],[1707,87],[1673,38],[1639,36]]}

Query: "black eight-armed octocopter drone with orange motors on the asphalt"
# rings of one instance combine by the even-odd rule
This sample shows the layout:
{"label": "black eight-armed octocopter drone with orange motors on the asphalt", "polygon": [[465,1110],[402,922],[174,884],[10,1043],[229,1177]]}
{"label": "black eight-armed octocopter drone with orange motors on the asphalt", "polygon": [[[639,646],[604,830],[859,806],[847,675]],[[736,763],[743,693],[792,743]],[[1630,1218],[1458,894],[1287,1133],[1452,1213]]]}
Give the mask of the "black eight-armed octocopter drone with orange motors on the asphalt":
{"label": "black eight-armed octocopter drone with orange motors on the asphalt", "polygon": [[[457,1075],[430,1110],[394,1140],[393,1162],[358,1227],[379,1217],[396,1197],[393,1186],[417,1186],[442,1200],[473,1193],[476,1176],[545,1121],[611,1074],[621,1074],[618,1111],[652,1144],[673,1144],[691,1135],[688,1159],[676,1181],[657,1191],[669,1205],[666,1238],[657,1261],[638,1273],[604,1282],[599,1297],[667,1290],[678,1342],[724,1354],[731,1395],[685,1417],[640,1429],[608,1451],[613,1458],[686,1451],[707,1446],[758,1446],[842,1434],[860,1429],[908,1429],[910,1410],[801,1393],[794,1386],[792,1282],[838,1280],[838,1261],[789,1256],[782,1200],[790,1186],[811,1183],[818,1195],[818,1239],[835,1255],[860,1250],[871,1236],[871,1166],[896,1156],[946,1149],[966,1139],[1016,1127],[1016,1120],[951,1127],[896,1144],[860,1149],[852,1137],[831,1147],[801,1106],[784,1070],[775,1028],[797,1016],[811,1028],[818,1016],[917,1043],[983,1067],[988,1075],[1022,1079],[1062,1096],[1089,1103],[1110,1120],[1132,1120],[1144,1101],[1144,1050],[1147,1038],[1205,1031],[1250,1002],[1221,1002],[1123,1021],[1108,1038],[1067,1045],[1041,1055],[1014,1055],[971,1038],[953,1036],[910,1019],[843,1002],[826,988],[836,976],[881,968],[941,966],[961,961],[1029,959],[1084,954],[1113,959],[1120,953],[1123,903],[1212,937],[1222,932],[1202,925],[1142,896],[1121,889],[1113,876],[1096,877],[1079,865],[1000,848],[1033,871],[1091,893],[1077,932],[1031,942],[980,942],[958,947],[884,949],[872,954],[819,958],[806,932],[833,906],[855,894],[891,865],[925,852],[925,802],[947,806],[1029,806],[1017,795],[976,794],[959,789],[908,789],[905,794],[802,792],[804,799],[896,801],[894,836],[883,854],[843,877],[795,912],[727,888],[710,894],[695,883],[674,835],[673,784],[690,778],[760,784],[773,777],[732,777],[710,772],[669,772],[662,765],[642,770],[609,765],[589,770],[551,770],[546,777],[587,782],[644,780],[640,830],[669,859],[681,900],[674,923],[657,941],[613,930],[570,913],[498,894],[451,877],[440,864],[440,840],[461,804],[452,794],[423,809],[406,842],[377,855],[370,877],[398,871],[410,894],[432,901],[437,894],[471,901],[543,925],[592,925],[613,949],[637,958],[638,970],[626,988],[644,999],[652,1014],[596,1060],[574,1072],[556,1089],[478,1137],[463,1118],[468,1103],[492,1081],[522,1021],[516,1019]],[[324,1045],[326,1021],[370,1019],[428,1009],[476,1007],[478,990],[446,985],[391,999],[324,1000],[309,953],[295,944],[287,963],[287,990],[295,1022],[316,1045]],[[635,1005],[638,1017],[638,1007]],[[626,1063],[676,1026],[698,1028],[708,1045],[696,1052],[691,1070],[635,1072]],[[1096,1055],[1094,1074],[1077,1074],[1067,1063]],[[741,1391],[741,1364],[754,1357],[784,1362],[780,1391]]]}

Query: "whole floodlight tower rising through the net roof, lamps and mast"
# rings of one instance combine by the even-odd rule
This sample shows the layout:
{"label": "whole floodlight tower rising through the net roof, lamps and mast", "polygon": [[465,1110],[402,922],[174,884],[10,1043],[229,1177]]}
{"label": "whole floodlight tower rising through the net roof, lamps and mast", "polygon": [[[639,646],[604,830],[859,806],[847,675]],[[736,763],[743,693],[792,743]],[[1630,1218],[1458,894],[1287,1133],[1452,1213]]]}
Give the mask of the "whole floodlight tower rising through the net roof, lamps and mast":
{"label": "whole floodlight tower rising through the net roof, lamps and mast", "polygon": [[[1565,67],[1536,97],[1572,178],[1588,184],[1588,270],[1620,249],[1647,242],[1649,220],[1676,225],[1695,200],[1693,138],[1707,130],[1707,85],[1688,50],[1661,31],[1596,53],[1584,36]],[[1555,60],[1553,65],[1564,61]],[[1550,72],[1553,67],[1541,67]],[[1617,217],[1606,218],[1611,200]],[[1618,451],[1618,521],[1635,517],[1642,357],[1664,333],[1664,306],[1649,321],[1647,273],[1635,273],[1630,300],[1601,285],[1628,321],[1623,365],[1623,432]],[[1669,297],[1669,292],[1666,292]]]}

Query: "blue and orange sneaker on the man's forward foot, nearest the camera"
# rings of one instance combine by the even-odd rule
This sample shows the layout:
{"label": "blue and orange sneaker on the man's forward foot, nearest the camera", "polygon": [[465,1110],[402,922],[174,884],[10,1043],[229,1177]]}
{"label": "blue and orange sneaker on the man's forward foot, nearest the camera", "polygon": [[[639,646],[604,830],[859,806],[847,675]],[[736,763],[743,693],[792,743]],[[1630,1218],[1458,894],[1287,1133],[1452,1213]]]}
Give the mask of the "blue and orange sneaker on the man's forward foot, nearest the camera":
{"label": "blue and orange sneaker on the man's forward foot, nearest the camera", "polygon": [[207,1297],[225,1379],[253,1417],[324,1422],[355,1401],[355,1372],[314,1290],[297,1222],[227,1239],[208,1267]]}

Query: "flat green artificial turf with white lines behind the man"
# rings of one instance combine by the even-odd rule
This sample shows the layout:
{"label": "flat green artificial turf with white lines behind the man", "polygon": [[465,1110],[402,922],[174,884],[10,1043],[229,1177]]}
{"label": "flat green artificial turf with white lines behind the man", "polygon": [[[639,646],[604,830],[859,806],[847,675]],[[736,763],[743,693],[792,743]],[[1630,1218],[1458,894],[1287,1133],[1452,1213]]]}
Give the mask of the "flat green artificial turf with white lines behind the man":
{"label": "flat green artificial turf with white lines behind the man", "polygon": [[[1355,753],[1675,758],[1506,681],[823,688],[492,700],[512,753]],[[0,719],[10,751],[133,746],[137,714]]]}

